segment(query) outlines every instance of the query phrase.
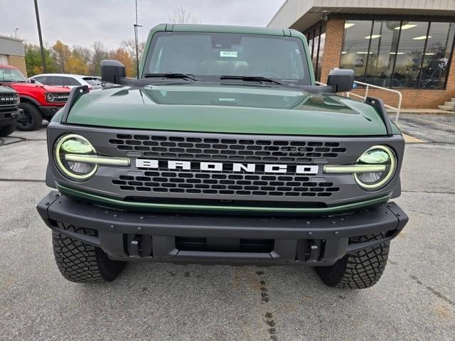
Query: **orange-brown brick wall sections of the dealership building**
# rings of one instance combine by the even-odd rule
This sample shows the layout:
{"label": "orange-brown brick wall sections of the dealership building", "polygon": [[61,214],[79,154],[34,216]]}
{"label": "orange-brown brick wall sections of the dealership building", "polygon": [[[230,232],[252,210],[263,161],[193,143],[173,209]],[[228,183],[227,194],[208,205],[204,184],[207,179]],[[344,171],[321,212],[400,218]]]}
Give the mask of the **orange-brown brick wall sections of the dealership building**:
{"label": "orange-brown brick wall sections of the dealership building", "polygon": [[[326,45],[324,48],[321,82],[327,82],[328,72],[333,67],[340,67],[341,48],[343,47],[344,20],[329,19],[326,23]],[[437,109],[439,104],[444,104],[451,97],[455,97],[455,53],[451,58],[451,67],[447,75],[445,90],[400,90],[402,93],[403,109]],[[399,89],[397,89],[399,90]],[[354,90],[364,94],[365,90]],[[385,104],[393,107],[397,105],[397,94],[384,90],[370,89],[370,96],[382,98]]]}

